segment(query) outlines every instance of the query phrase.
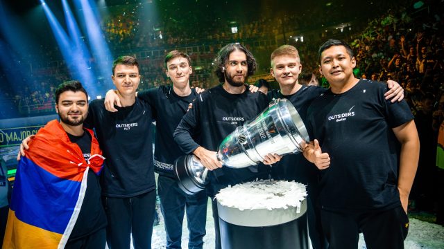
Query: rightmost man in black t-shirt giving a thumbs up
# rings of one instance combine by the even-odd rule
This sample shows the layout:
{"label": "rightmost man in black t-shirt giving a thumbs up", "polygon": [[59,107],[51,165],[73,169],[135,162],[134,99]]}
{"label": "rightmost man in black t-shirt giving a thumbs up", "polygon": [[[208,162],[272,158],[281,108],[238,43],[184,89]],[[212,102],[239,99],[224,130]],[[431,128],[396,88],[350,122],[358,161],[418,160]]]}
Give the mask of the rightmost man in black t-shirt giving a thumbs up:
{"label": "rightmost man in black t-shirt giving a thumbs up", "polygon": [[[352,49],[330,39],[319,49],[331,89],[307,111],[314,140],[304,156],[321,169],[321,222],[330,248],[404,248],[407,203],[419,139],[406,102],[384,99],[386,84],[359,80]],[[316,138],[316,139],[315,139]]]}

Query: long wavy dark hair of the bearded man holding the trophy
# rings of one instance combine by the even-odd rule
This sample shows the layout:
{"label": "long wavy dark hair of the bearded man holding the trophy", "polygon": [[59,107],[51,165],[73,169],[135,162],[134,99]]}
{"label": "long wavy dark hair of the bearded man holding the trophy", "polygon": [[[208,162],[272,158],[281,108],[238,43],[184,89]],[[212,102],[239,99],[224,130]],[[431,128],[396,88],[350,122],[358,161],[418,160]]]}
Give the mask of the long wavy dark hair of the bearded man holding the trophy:
{"label": "long wavy dark hair of the bearded man holding the trophy", "polygon": [[254,75],[256,72],[257,63],[253,54],[242,44],[239,43],[228,44],[225,45],[223,48],[221,48],[221,50],[219,50],[219,53],[217,53],[216,58],[212,63],[214,66],[214,73],[219,79],[219,82],[225,82],[225,74],[223,73],[224,72],[223,68],[225,67],[225,64],[227,64],[228,59],[230,59],[230,54],[234,50],[239,50],[244,52],[247,57],[247,66],[248,66],[247,77]]}

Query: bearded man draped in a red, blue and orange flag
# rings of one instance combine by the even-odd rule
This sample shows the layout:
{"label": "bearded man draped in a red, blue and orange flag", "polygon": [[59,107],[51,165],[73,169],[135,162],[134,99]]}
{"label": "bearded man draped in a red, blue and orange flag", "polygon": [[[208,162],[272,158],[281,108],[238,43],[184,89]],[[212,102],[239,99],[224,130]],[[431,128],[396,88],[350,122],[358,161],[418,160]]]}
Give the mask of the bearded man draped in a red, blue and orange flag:
{"label": "bearded man draped in a red, blue and orange flag", "polygon": [[[93,131],[83,128],[88,113],[87,92],[80,82],[71,81],[60,84],[55,96],[60,122],[50,121],[40,129],[30,142],[31,148],[22,154],[16,178],[19,181],[15,182],[17,191],[13,193],[11,203],[11,210],[15,210],[22,223],[44,228],[51,234],[45,237],[45,232],[36,228],[34,233],[19,230],[20,226],[14,225],[11,219],[8,222],[12,232],[7,232],[3,248],[105,248],[107,219],[99,184],[103,157],[99,156],[101,150]],[[22,167],[23,162],[27,162],[25,167]],[[33,177],[33,191],[22,187],[26,185],[20,181],[24,175]],[[60,186],[63,188],[60,189]],[[42,195],[41,202],[35,199],[34,193]],[[34,200],[32,206],[27,206],[29,200],[22,202],[22,199]],[[46,205],[47,209],[44,208]],[[33,212],[40,210],[41,213],[26,211],[28,209]],[[46,216],[47,210],[56,210],[50,215],[56,216],[57,221]],[[69,216],[66,217],[66,214]],[[38,217],[33,219],[33,215]],[[65,218],[69,223],[62,223]],[[57,241],[58,230],[62,233],[60,241]],[[33,237],[33,234],[38,236]]]}

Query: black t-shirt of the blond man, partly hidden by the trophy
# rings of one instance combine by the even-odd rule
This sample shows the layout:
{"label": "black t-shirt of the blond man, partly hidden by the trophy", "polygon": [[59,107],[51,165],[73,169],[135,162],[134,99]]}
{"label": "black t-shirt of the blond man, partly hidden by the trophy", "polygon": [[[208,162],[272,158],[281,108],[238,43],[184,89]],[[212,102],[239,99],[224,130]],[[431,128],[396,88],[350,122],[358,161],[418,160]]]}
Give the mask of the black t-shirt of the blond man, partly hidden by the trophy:
{"label": "black t-shirt of the blond man, partly hidden by the trophy", "polygon": [[[322,87],[302,85],[296,93],[291,95],[283,95],[279,90],[269,91],[268,98],[289,100],[305,124],[309,105],[325,91],[327,89]],[[271,168],[271,178],[286,181],[294,180],[310,185],[309,183],[316,183],[318,181],[318,168],[305,159],[302,153],[289,154],[273,165]]]}

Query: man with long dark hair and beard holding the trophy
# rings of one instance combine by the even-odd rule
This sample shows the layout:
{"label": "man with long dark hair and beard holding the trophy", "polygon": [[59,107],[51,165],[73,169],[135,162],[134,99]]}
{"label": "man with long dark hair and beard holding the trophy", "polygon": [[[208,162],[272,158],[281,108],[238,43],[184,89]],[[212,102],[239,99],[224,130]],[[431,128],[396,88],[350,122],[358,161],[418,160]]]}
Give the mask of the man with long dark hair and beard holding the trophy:
{"label": "man with long dark hair and beard holding the trophy", "polygon": [[[219,51],[215,59],[215,73],[219,82],[202,94],[193,103],[193,108],[182,118],[174,139],[185,154],[193,153],[207,169],[210,183],[207,194],[212,198],[212,210],[216,248],[221,248],[219,234],[219,215],[214,195],[223,187],[256,178],[268,178],[268,166],[231,169],[222,167],[216,158],[219,144],[236,127],[252,120],[263,111],[268,98],[261,92],[246,91],[246,79],[253,75],[256,62],[253,55],[241,44],[228,44]],[[268,154],[264,163],[271,164],[280,160],[280,156]]]}

